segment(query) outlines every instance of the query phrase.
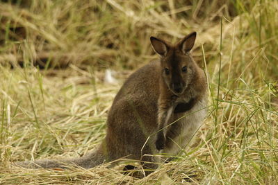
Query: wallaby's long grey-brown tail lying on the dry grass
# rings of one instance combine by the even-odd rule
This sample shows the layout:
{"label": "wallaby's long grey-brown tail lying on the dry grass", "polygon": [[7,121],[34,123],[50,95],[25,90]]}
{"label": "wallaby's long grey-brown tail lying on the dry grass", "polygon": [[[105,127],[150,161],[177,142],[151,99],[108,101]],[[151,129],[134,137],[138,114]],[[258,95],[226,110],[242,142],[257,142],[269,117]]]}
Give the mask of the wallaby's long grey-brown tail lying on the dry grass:
{"label": "wallaby's long grey-brown tail lying on the dry grass", "polygon": [[[89,152],[80,158],[73,159],[40,159],[35,161],[22,161],[16,163],[17,166],[24,168],[67,168],[68,166],[80,166],[82,168],[92,168],[106,161],[103,148]],[[106,161],[107,162],[107,161]]]}

